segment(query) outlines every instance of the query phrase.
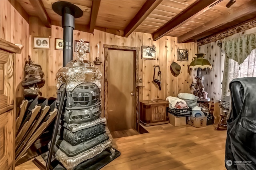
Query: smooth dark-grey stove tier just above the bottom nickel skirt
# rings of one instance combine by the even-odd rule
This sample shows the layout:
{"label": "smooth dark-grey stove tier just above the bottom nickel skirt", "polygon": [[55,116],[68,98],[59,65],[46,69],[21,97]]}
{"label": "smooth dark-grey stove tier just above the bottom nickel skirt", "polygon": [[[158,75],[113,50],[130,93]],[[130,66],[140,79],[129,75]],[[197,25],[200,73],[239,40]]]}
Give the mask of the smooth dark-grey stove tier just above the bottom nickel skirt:
{"label": "smooth dark-grey stove tier just above the bottom nickel skirt", "polygon": [[62,140],[60,136],[57,136],[58,140],[56,141],[56,146],[59,148],[62,152],[64,152],[67,156],[76,156],[102,142],[105,140],[108,140],[108,134],[104,133],[99,136],[96,136],[95,138],[92,138],[91,140],[88,140],[86,142],[80,143],[78,145],[72,146],[70,143],[66,142],[65,140]]}

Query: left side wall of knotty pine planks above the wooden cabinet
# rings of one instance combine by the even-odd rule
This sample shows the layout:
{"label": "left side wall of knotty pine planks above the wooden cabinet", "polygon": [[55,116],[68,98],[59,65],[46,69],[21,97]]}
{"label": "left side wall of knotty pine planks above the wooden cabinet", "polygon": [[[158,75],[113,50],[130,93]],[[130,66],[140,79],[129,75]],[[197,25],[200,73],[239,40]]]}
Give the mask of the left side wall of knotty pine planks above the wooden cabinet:
{"label": "left side wall of knotty pine planks above the wooden cabinet", "polygon": [[28,58],[29,46],[29,24],[26,20],[15,10],[15,8],[8,2],[8,0],[1,0],[0,2],[0,38],[7,40],[14,44],[21,44],[24,46],[22,53],[16,55],[15,59],[15,92],[17,102],[22,99],[23,87],[21,81],[24,80],[24,65]]}

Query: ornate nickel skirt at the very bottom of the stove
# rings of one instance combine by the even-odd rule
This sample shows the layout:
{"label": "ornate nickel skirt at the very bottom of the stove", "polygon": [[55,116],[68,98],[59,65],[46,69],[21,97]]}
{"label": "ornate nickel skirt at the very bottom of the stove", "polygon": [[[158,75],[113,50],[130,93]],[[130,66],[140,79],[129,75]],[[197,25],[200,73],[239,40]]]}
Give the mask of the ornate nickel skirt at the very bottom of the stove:
{"label": "ornate nickel skirt at the very bottom of the stove", "polygon": [[97,146],[94,146],[93,148],[86,150],[85,152],[82,152],[76,156],[68,157],[64,152],[62,152],[60,149],[55,150],[55,158],[62,163],[62,165],[67,170],[72,170],[75,166],[78,164],[93,158],[94,156],[100,154],[103,150],[105,150],[108,147],[112,146],[112,139],[108,139],[101,144],[98,144]]}

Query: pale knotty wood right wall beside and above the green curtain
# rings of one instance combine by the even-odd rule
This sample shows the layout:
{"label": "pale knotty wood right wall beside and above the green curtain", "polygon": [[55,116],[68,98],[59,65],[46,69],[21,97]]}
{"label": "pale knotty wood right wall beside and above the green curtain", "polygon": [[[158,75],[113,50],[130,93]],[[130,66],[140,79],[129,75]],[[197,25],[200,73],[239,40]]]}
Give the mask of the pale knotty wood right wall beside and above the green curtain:
{"label": "pale knotty wood right wall beside and above the green curtain", "polygon": [[[232,36],[226,37],[226,40],[232,38],[238,38],[246,34],[252,34],[256,32],[256,28],[251,28],[244,32],[234,34]],[[205,45],[199,46],[199,53],[205,53],[205,58],[210,61],[213,65],[212,70],[202,71],[201,74],[206,78],[204,81],[204,87],[208,92],[208,97],[212,101],[217,101],[221,99],[221,88],[222,88],[222,79],[223,79],[223,70],[224,70],[224,59],[225,52],[221,50],[221,47],[217,46],[218,41],[207,43]]]}

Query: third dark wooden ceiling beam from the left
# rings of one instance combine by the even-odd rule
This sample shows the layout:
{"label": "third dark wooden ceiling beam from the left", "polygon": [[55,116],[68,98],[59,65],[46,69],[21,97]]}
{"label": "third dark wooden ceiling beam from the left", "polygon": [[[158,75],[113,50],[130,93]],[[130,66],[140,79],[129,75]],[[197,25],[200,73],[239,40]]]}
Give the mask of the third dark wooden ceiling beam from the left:
{"label": "third dark wooden ceiling beam from the left", "polygon": [[130,36],[132,32],[148,17],[149,14],[162,2],[162,0],[147,0],[134,16],[132,21],[124,29],[124,37]]}

